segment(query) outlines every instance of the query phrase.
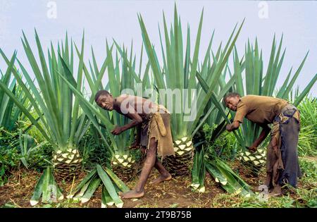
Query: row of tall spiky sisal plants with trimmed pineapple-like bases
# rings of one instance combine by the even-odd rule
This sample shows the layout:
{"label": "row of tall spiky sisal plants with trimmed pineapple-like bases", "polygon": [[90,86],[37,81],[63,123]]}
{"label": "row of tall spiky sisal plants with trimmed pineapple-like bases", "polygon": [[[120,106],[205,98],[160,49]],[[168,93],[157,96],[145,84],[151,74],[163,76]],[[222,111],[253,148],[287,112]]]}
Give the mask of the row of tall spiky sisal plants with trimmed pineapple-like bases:
{"label": "row of tall spiky sisal plants with trimmed pineapple-like bases", "polygon": [[[190,109],[197,107],[197,116],[193,120],[184,121],[187,115],[185,111],[171,111],[175,156],[168,156],[163,165],[173,175],[192,173],[193,190],[199,192],[204,192],[204,178],[208,172],[227,192],[246,197],[254,195],[249,185],[220,158],[224,150],[229,149],[228,158],[238,157],[256,171],[265,164],[265,145],[255,153],[246,149],[260,133],[259,126],[249,121],[244,121],[241,130],[234,132],[234,142],[229,143],[230,147],[221,144],[222,148],[218,149],[218,138],[223,135],[225,125],[234,117],[234,113],[228,111],[222,102],[228,92],[238,92],[242,96],[256,94],[287,99],[294,106],[301,106],[307,116],[315,115],[309,114],[311,107],[305,109],[305,106],[316,107],[313,104],[316,104],[316,101],[305,99],[306,105],[300,103],[309,94],[317,80],[317,74],[302,92],[293,90],[307,54],[297,69],[290,69],[282,86],[276,85],[285,57],[282,38],[277,41],[274,37],[267,64],[263,62],[262,50],[259,49],[257,40],[254,44],[247,42],[244,54],[239,55],[235,42],[242,30],[242,22],[232,30],[228,41],[220,44],[216,50],[212,49],[212,35],[204,60],[199,61],[203,13],[194,39],[193,52],[190,47],[189,26],[183,36],[176,8],[170,30],[163,17],[163,28],[160,30],[161,46],[156,48],[147,33],[142,16],[139,15],[138,18],[143,38],[139,63],[136,63],[137,55],[133,53],[132,47],[121,47],[115,41],[112,44],[106,42],[106,58],[101,64],[97,64],[93,49],[89,63],[85,63],[84,35],[80,45],[69,41],[66,35],[65,41],[58,43],[57,49],[53,44],[49,49],[43,49],[35,32],[37,49],[31,49],[23,33],[22,44],[32,70],[27,70],[25,65],[20,63],[16,52],[9,57],[0,49],[7,65],[1,71],[0,81],[0,146],[3,152],[0,159],[1,180],[6,178],[10,168],[10,164],[5,164],[5,154],[14,147],[18,147],[19,159],[26,168],[39,166],[35,164],[36,160],[44,163],[40,164],[40,168],[45,169],[30,200],[32,205],[37,204],[41,197],[42,202],[63,199],[63,192],[58,188],[56,180],[71,183],[82,168],[87,168],[90,173],[68,198],[75,197],[87,202],[95,190],[102,186],[102,206],[123,206],[118,192],[129,190],[123,181],[130,180],[137,174],[137,163],[142,161],[142,156],[139,158],[128,148],[135,140],[134,129],[116,136],[111,134],[116,125],[125,125],[129,120],[119,113],[99,108],[94,103],[94,95],[99,90],[108,90],[113,97],[118,97],[121,91],[127,88],[135,90],[136,93],[138,83],[142,83],[142,90],[151,89],[152,92],[161,89],[185,89],[188,92],[197,90],[196,97],[181,94],[181,97],[189,100],[189,104],[197,104],[189,106]],[[147,54],[145,62],[142,59],[144,49]],[[162,64],[157,57],[159,50],[163,56]],[[44,51],[47,51],[47,54],[44,54]],[[228,65],[229,59],[233,61],[232,67]],[[78,63],[78,66],[74,67],[74,63]],[[108,80],[106,85],[103,84],[104,79]],[[84,92],[87,92],[85,81],[89,85],[88,91],[92,92],[91,97],[84,96]],[[180,101],[183,103],[188,101],[187,99]],[[156,102],[160,104],[161,100],[157,98]],[[163,105],[167,107],[167,104]],[[180,104],[180,107],[185,107],[185,104]],[[316,111],[316,108],[313,110]],[[316,122],[315,119],[310,121]],[[308,141],[316,141],[316,129],[308,127],[302,130],[307,132],[306,137],[310,138]],[[34,136],[30,135],[38,137],[33,138]],[[301,144],[304,144],[302,151]],[[89,146],[97,148],[86,149]],[[306,139],[302,143],[301,139],[299,141],[302,154],[308,150],[307,147],[314,146],[316,147],[316,144],[309,143]],[[49,155],[52,159],[44,161],[35,156],[39,150],[52,152]],[[92,162],[101,165],[96,168],[96,165],[88,167],[87,156],[92,156],[89,152],[94,152],[95,159]],[[316,154],[316,151],[312,152]],[[107,161],[110,166],[105,166]],[[55,199],[51,198],[52,192]]]}

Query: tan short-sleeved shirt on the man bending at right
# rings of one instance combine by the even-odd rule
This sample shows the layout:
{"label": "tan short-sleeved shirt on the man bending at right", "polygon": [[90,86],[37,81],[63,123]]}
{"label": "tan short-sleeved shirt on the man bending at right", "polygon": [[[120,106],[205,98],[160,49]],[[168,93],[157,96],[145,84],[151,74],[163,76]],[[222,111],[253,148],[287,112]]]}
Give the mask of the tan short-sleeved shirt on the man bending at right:
{"label": "tan short-sleeved shirt on the man bending at right", "polygon": [[237,104],[237,113],[234,121],[243,123],[243,118],[245,117],[257,124],[270,124],[273,123],[275,116],[287,104],[288,102],[284,99],[247,95],[241,97]]}

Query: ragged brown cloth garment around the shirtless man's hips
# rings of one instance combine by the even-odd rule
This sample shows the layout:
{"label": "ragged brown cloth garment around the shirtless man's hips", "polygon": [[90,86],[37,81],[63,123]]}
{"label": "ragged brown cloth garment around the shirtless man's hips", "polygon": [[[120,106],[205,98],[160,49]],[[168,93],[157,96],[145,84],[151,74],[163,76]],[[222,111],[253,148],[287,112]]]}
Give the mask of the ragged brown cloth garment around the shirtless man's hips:
{"label": "ragged brown cloth garment around the shirtless man's hips", "polygon": [[175,156],[172,133],[170,132],[170,113],[149,113],[142,128],[140,145],[149,149],[151,138],[157,142],[157,154],[163,160],[165,156]]}

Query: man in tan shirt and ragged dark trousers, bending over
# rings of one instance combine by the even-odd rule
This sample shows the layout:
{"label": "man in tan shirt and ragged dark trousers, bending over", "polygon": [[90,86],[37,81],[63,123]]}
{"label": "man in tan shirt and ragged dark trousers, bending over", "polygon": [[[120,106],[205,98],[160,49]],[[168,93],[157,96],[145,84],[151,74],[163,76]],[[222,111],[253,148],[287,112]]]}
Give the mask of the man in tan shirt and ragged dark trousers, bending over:
{"label": "man in tan shirt and ragged dark trousers, bending over", "polygon": [[[272,188],[271,195],[282,195],[281,186],[297,185],[297,177],[302,175],[297,156],[299,136],[299,111],[284,99],[247,95],[231,92],[224,98],[226,106],[236,111],[232,124],[227,130],[237,130],[244,117],[261,126],[263,129],[259,138],[249,147],[255,152],[259,144],[271,131],[271,141],[268,144],[266,156],[266,185]],[[273,123],[272,129],[268,124]]]}

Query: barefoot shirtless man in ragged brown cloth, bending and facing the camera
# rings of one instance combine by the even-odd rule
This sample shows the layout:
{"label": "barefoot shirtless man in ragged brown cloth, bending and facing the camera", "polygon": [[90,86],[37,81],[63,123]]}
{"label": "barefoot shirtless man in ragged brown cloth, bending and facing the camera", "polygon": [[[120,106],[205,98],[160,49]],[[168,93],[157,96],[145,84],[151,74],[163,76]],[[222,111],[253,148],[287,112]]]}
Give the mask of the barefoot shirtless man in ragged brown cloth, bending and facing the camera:
{"label": "barefoot shirtless man in ragged brown cloth, bending and facing the camera", "polygon": [[134,190],[120,194],[121,197],[139,198],[144,196],[144,187],[153,167],[159,173],[152,184],[156,185],[163,181],[170,180],[172,176],[163,167],[156,154],[162,156],[175,155],[173,140],[170,132],[170,113],[164,106],[157,105],[149,99],[122,94],[113,97],[106,90],[100,90],[95,95],[95,101],[103,109],[117,111],[130,118],[132,121],[123,126],[116,126],[111,130],[113,135],[120,135],[121,132],[133,127],[137,127],[136,141],[130,148],[145,147],[147,156],[139,177],[139,181]]}

